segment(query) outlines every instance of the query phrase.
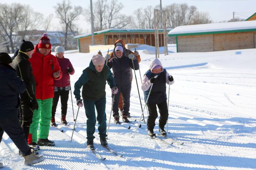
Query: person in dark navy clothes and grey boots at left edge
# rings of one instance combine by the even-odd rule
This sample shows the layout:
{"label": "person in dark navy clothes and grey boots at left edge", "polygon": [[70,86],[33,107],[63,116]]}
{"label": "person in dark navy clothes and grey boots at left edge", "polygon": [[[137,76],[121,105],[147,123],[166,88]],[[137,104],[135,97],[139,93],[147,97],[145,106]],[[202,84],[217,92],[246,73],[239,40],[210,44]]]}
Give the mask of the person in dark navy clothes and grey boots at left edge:
{"label": "person in dark navy clothes and grey boots at left edge", "polygon": [[0,52],[0,142],[4,131],[11,138],[25,159],[25,165],[32,165],[44,160],[43,155],[36,155],[28,146],[24,130],[17,117],[20,100],[19,93],[26,90],[26,85],[11,67],[11,57]]}

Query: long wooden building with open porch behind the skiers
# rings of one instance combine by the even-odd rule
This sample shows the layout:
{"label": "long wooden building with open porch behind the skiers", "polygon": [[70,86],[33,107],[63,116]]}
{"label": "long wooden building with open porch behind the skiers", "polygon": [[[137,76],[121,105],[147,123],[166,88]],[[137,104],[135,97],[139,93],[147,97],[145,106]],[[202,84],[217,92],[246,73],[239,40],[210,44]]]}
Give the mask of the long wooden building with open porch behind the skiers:
{"label": "long wooden building with open porch behind the skiers", "polygon": [[[170,31],[171,29],[167,29]],[[126,44],[147,44],[155,46],[154,29],[105,29],[94,32],[95,45],[113,45],[118,39],[122,39]],[[92,44],[91,33],[74,37],[78,41],[79,52],[90,52]],[[159,29],[159,46],[164,46],[163,30]]]}

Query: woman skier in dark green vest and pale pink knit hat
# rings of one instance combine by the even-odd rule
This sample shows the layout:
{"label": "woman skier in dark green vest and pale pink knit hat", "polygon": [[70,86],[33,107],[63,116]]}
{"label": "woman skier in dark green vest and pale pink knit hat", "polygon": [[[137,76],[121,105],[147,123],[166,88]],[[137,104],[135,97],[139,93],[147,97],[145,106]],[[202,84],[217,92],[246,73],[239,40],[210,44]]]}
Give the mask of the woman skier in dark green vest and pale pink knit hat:
{"label": "woman skier in dark green vest and pale pink knit hat", "polygon": [[[106,81],[111,88],[112,94],[116,94],[118,89],[115,88],[113,75],[110,68],[104,64],[105,60],[101,55],[94,55],[89,67],[83,70],[82,75],[75,83],[74,95],[76,104],[82,107],[80,89],[82,87],[82,98],[87,117],[87,147],[94,148],[93,140],[95,138],[95,124],[98,121],[98,131],[100,135],[101,145],[107,146],[107,118],[106,118]],[[97,117],[95,115],[95,107]]]}

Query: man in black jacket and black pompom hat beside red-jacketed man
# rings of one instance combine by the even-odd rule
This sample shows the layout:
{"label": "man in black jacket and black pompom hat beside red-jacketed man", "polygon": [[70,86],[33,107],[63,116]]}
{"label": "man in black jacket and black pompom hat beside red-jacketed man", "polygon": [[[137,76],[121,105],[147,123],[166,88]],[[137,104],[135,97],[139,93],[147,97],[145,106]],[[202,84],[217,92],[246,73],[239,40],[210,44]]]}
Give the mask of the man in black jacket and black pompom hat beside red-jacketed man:
{"label": "man in black jacket and black pompom hat beside red-jacketed man", "polygon": [[[33,111],[38,109],[35,91],[36,84],[32,74],[32,67],[28,58],[32,57],[34,45],[30,41],[22,40],[18,55],[12,62],[12,67],[16,70],[18,77],[20,77],[26,84],[26,91],[21,93],[21,108],[20,108],[20,122],[21,127],[25,131],[26,139],[30,131],[30,124],[32,123]],[[36,143],[32,143],[34,147]]]}

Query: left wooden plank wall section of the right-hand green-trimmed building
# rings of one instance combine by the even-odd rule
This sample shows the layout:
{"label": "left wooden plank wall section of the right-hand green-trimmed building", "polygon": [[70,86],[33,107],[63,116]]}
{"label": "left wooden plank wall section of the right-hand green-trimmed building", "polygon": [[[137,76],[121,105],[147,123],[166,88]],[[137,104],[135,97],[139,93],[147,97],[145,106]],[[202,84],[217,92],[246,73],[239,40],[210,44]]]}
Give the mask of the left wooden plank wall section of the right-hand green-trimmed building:
{"label": "left wooden plank wall section of the right-hand green-trimmed building", "polygon": [[178,52],[213,51],[213,34],[178,36]]}

